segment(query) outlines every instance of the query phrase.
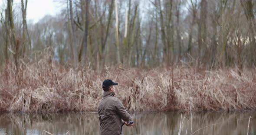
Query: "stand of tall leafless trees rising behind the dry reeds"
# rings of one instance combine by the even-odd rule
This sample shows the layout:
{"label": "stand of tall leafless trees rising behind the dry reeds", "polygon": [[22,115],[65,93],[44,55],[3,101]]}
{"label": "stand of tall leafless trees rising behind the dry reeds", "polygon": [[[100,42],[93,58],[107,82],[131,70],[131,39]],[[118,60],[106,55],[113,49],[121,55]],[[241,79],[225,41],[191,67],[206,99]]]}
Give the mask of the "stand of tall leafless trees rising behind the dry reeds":
{"label": "stand of tall leafless trees rising behind the dry reeds", "polygon": [[[146,4],[143,9],[132,0],[65,0],[60,16],[46,16],[35,24],[26,21],[28,0],[20,0],[20,11],[13,0],[6,1],[6,10],[1,10],[1,61],[16,65],[19,58],[28,55],[33,60],[32,51],[49,46],[57,51],[51,55],[59,63],[76,67],[90,61],[94,69],[110,59],[125,66],[170,65],[183,52],[188,55],[182,60],[198,60],[211,68],[256,62],[253,0],[187,0],[189,10],[185,0],[139,1]],[[233,45],[238,39],[240,45]]]}

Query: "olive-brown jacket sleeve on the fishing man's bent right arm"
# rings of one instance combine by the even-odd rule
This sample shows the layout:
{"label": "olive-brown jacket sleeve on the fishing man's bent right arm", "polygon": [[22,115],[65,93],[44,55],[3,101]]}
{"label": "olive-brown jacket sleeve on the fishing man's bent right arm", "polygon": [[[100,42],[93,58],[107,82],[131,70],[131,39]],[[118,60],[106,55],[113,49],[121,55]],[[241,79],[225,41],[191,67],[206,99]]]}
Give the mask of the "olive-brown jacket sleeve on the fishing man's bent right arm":
{"label": "olive-brown jacket sleeve on the fishing man's bent right arm", "polygon": [[123,119],[126,122],[131,120],[131,115],[126,111],[125,107],[119,99],[115,101],[115,108],[117,114],[121,117],[121,119]]}

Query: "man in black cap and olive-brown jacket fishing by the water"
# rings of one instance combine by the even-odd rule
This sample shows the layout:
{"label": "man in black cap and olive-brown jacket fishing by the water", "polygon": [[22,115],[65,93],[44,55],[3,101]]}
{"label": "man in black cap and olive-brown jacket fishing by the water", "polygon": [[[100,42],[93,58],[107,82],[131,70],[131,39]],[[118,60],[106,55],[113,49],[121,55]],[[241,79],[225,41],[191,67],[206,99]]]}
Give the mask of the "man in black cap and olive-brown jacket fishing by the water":
{"label": "man in black cap and olive-brown jacket fishing by the water", "polygon": [[131,115],[126,111],[121,101],[114,97],[115,85],[111,79],[103,81],[102,89],[104,94],[98,105],[98,116],[100,122],[100,135],[121,135],[122,126],[130,124]]}

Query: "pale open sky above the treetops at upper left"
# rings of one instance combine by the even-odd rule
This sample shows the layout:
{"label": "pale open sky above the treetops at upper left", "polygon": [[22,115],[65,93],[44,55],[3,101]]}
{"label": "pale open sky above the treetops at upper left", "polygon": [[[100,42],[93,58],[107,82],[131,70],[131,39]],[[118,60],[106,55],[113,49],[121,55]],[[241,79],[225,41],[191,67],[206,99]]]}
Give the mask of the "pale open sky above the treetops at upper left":
{"label": "pale open sky above the treetops at upper left", "polygon": [[[20,7],[21,0],[13,0],[15,6]],[[23,0],[25,2],[25,0]],[[7,0],[0,0],[0,8],[6,5]],[[56,0],[28,0],[27,3],[27,20],[37,23],[45,15],[55,16],[60,11],[59,3]]]}

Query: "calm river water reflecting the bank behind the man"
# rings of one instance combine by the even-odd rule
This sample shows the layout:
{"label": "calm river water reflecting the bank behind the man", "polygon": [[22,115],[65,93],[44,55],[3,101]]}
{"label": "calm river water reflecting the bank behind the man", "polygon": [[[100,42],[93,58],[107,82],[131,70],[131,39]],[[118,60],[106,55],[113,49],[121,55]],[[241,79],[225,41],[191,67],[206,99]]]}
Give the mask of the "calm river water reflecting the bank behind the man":
{"label": "calm river water reflecting the bank behind the man", "polygon": [[[242,113],[134,113],[134,127],[123,128],[123,135],[256,135],[256,112]],[[215,124],[215,125],[213,125]],[[0,135],[98,135],[97,113],[13,114],[0,115]]]}

